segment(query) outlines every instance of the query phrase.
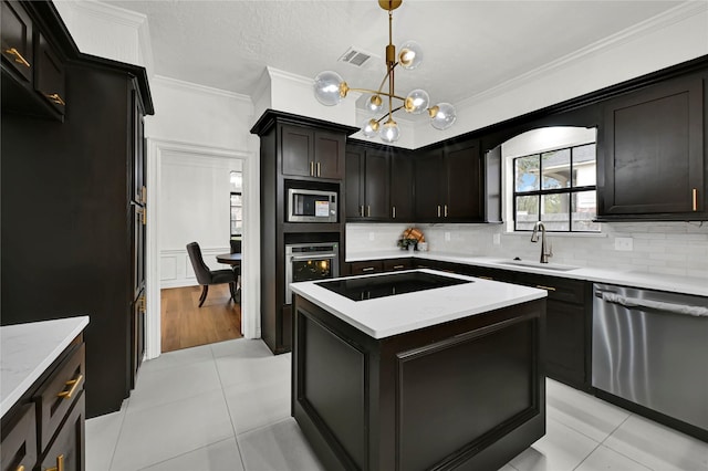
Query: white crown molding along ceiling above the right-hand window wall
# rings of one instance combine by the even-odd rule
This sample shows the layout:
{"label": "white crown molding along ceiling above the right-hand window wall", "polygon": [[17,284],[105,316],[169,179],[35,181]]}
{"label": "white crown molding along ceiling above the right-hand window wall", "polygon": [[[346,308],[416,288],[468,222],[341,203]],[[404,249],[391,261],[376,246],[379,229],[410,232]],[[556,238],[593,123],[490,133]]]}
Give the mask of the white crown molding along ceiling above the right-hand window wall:
{"label": "white crown molding along ceiling above the right-hand window wall", "polygon": [[623,44],[626,44],[631,41],[634,41],[652,32],[659,31],[664,28],[670,27],[671,24],[678,23],[689,18],[697,17],[699,14],[705,14],[707,11],[708,11],[708,2],[706,1],[697,1],[697,0],[686,1],[677,7],[674,7],[673,9],[669,9],[653,18],[649,18],[648,20],[634,24],[623,31],[620,31],[615,34],[606,36],[600,41],[596,41],[592,44],[581,48],[560,59],[556,59],[555,61],[551,61],[544,65],[541,65],[540,67],[525,72],[511,80],[502,82],[499,85],[496,85],[491,88],[487,88],[483,92],[480,92],[468,98],[465,98],[458,102],[458,105],[457,105],[458,109],[472,106],[482,100],[496,97],[509,90],[516,88],[524,83],[528,83],[531,80],[537,80],[544,75],[549,75],[558,70],[573,65],[580,61],[592,57],[593,55],[597,55],[600,53],[611,51],[615,48],[618,48]]}

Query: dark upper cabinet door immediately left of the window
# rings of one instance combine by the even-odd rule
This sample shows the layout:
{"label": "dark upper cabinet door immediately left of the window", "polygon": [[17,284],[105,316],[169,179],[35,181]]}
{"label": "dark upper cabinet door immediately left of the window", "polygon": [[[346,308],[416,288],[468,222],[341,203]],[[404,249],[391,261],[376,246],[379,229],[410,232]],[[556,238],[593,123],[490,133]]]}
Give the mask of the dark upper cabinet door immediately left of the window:
{"label": "dark upper cabinet door immediately left of the window", "polygon": [[481,220],[481,160],[477,142],[445,150],[447,198],[442,217]]}

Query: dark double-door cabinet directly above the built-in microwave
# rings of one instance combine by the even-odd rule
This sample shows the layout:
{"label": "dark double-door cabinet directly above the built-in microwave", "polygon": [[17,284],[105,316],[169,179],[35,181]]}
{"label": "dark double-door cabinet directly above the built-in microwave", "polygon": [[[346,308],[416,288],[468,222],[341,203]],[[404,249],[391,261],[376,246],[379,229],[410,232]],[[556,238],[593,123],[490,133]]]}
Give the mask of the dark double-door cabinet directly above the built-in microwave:
{"label": "dark double-door cabinet directly above the built-in microwave", "polygon": [[282,172],[295,177],[341,180],[345,136],[302,126],[282,126]]}

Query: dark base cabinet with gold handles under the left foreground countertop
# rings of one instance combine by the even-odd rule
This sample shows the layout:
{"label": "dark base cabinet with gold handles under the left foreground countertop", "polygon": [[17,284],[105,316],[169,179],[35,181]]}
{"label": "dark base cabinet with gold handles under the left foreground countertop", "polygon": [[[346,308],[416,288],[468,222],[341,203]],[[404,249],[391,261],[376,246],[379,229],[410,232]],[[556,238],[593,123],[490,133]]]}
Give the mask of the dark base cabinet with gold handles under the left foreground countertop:
{"label": "dark base cabinet with gold handles under the left foreground countertop", "polygon": [[84,378],[80,335],[2,417],[2,471],[85,469]]}

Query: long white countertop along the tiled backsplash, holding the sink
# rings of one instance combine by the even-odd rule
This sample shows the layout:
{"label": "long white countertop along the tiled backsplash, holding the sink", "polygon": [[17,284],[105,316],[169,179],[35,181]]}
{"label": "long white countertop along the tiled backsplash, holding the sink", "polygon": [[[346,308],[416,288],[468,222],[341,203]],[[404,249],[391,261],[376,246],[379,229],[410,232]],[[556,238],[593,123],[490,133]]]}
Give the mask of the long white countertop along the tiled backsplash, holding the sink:
{"label": "long white countertop along the tiled backsplash, holding the sink", "polygon": [[[347,254],[347,262],[365,260],[404,259],[415,257],[420,260],[437,260],[441,262],[462,263],[468,265],[487,266],[491,269],[510,270],[524,273],[543,274],[574,280],[590,281],[593,283],[607,283],[622,286],[641,287],[646,290],[669,291],[675,293],[708,296],[708,273],[706,278],[678,276],[659,273],[646,273],[636,271],[622,271],[613,269],[584,268],[559,271],[537,266],[510,265],[502,262],[512,262],[512,259],[503,260],[500,257],[471,257],[439,252],[406,252],[403,250],[378,251],[371,253]],[[549,266],[554,266],[553,262]]]}

